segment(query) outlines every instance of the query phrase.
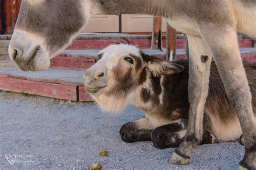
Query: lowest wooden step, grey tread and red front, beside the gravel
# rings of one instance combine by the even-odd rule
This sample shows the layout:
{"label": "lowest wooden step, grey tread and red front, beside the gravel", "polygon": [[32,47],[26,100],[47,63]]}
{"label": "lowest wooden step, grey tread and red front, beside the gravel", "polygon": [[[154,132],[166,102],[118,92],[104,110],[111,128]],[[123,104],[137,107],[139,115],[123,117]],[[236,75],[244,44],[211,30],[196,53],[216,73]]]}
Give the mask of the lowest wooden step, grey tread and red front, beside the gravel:
{"label": "lowest wooden step, grey tread and red front, beside the gravel", "polygon": [[84,71],[48,69],[24,72],[0,68],[0,89],[71,101],[93,101],[84,90]]}

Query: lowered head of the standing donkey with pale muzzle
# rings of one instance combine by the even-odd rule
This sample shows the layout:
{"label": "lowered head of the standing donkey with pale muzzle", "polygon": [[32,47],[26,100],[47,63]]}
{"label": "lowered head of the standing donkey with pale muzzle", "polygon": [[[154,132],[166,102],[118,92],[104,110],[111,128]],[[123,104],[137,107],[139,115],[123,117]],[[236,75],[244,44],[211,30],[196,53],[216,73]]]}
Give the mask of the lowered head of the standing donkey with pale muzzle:
{"label": "lowered head of the standing donkey with pale muzzle", "polygon": [[24,71],[47,69],[92,11],[91,1],[23,0],[9,45],[11,60]]}

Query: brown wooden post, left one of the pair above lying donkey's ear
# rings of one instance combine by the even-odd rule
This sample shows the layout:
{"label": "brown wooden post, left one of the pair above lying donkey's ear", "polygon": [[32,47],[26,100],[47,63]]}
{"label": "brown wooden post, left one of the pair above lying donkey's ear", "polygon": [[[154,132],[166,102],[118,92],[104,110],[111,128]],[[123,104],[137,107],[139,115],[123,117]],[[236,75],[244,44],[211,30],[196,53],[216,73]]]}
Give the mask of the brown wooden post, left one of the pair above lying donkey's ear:
{"label": "brown wooden post, left one of the pair above lying donkey's ear", "polygon": [[153,31],[151,40],[151,49],[162,49],[162,36],[161,36],[162,17],[153,17]]}

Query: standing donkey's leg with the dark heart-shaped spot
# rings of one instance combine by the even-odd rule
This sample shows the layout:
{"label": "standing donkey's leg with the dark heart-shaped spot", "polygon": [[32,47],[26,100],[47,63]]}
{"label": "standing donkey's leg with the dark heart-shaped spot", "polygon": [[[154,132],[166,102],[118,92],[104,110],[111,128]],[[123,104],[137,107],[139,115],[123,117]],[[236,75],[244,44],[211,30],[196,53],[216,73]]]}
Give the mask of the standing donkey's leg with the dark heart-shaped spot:
{"label": "standing donkey's leg with the dark heart-shaped spot", "polygon": [[204,105],[208,94],[208,83],[212,55],[200,37],[188,35],[190,68],[188,79],[188,100],[190,112],[184,141],[175,149],[170,162],[184,165],[190,162],[191,152],[203,136]]}

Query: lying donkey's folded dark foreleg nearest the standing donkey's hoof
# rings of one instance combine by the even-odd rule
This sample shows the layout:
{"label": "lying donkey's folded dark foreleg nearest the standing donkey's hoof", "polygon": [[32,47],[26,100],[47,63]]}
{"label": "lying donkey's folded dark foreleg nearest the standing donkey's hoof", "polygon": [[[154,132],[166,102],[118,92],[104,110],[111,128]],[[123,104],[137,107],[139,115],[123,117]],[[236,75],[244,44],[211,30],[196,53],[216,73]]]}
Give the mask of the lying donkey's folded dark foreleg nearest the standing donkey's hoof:
{"label": "lying donkey's folded dark foreleg nearest the standing donkey's hoof", "polygon": [[159,126],[151,133],[153,145],[159,149],[177,147],[187,131],[187,120],[179,119],[174,123]]}

